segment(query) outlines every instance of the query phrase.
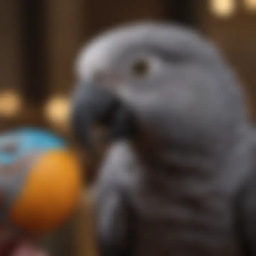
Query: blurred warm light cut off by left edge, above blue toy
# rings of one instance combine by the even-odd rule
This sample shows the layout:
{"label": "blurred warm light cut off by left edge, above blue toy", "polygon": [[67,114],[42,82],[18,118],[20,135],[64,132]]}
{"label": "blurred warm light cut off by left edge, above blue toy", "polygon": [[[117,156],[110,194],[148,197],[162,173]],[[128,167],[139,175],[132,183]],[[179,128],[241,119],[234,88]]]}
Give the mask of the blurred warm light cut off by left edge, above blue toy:
{"label": "blurred warm light cut off by left edge, above blue toy", "polygon": [[18,113],[21,108],[21,97],[15,91],[0,93],[0,115],[11,117]]}

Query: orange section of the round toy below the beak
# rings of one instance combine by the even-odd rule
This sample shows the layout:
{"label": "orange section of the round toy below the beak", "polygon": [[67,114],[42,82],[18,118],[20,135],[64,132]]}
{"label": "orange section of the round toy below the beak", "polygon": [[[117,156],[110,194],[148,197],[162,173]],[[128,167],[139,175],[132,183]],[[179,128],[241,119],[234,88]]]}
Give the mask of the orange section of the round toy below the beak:
{"label": "orange section of the round toy below the beak", "polygon": [[80,166],[68,150],[42,153],[14,201],[11,222],[31,234],[57,228],[69,217],[81,192]]}

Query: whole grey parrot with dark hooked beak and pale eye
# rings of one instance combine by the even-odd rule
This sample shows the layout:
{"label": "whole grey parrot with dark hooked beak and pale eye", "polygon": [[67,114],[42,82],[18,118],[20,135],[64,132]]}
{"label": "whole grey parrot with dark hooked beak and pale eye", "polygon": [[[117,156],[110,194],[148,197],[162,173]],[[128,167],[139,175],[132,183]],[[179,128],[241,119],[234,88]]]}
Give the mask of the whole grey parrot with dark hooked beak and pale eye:
{"label": "whole grey parrot with dark hooked beak and pale eye", "polygon": [[100,256],[256,255],[255,132],[238,79],[189,28],[134,23],[81,50],[71,120],[92,155]]}

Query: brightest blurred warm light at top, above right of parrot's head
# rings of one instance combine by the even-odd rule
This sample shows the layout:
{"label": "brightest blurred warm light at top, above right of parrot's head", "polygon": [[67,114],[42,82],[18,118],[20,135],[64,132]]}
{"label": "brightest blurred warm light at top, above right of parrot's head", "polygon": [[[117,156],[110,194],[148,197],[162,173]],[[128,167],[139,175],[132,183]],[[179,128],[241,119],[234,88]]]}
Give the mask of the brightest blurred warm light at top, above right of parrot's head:
{"label": "brightest blurred warm light at top, above right of parrot's head", "polygon": [[230,17],[235,7],[235,0],[210,0],[210,11],[218,17]]}

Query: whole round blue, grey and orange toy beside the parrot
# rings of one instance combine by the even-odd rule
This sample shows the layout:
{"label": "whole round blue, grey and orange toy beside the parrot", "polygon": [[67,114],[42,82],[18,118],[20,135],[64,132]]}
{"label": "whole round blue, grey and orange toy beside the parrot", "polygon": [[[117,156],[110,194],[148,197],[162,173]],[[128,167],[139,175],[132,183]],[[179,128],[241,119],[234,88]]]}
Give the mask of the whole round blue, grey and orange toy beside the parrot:
{"label": "whole round blue, grey and orange toy beside the parrot", "polygon": [[80,166],[63,139],[37,128],[0,135],[2,223],[43,234],[65,222],[80,192]]}

